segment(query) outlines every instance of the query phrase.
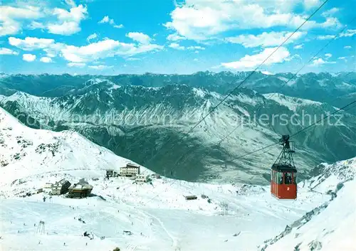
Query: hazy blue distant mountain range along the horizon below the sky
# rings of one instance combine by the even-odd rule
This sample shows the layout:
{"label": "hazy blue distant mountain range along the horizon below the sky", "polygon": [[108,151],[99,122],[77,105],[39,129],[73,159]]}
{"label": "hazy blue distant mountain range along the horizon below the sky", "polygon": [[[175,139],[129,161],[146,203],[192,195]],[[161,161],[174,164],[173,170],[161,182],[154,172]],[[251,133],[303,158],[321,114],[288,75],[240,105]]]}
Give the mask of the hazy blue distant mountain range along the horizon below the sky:
{"label": "hazy blue distant mountain range along the horizon below the sky", "polygon": [[[198,72],[192,75],[152,74],[115,76],[103,75],[0,75],[0,95],[11,95],[16,91],[43,97],[58,97],[80,89],[83,83],[93,78],[105,78],[116,85],[137,85],[162,87],[166,85],[187,85],[204,87],[207,90],[225,94],[239,85],[251,72]],[[292,97],[328,102],[342,107],[356,96],[356,72],[350,73],[306,73],[293,78],[293,73],[266,75],[256,72],[243,87],[261,94],[279,92]],[[356,110],[355,110],[356,113]]]}

